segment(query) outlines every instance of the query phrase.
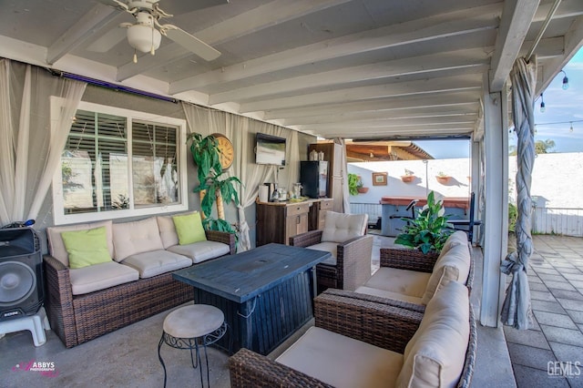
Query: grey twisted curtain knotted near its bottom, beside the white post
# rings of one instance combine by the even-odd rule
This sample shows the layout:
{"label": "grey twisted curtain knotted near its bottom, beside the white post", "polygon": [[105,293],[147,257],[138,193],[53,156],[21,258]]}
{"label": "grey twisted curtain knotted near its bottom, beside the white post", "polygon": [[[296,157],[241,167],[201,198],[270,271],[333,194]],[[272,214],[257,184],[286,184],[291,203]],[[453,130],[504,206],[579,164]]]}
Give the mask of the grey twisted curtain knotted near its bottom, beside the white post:
{"label": "grey twisted curtain knotted near its bottom, beside the white post", "polygon": [[537,59],[530,63],[518,58],[512,72],[512,116],[517,130],[517,250],[503,260],[501,270],[512,275],[501,318],[506,325],[519,330],[532,326],[530,291],[527,267],[533,250],[531,230],[532,203],[530,186],[535,163],[535,87],[537,84]]}

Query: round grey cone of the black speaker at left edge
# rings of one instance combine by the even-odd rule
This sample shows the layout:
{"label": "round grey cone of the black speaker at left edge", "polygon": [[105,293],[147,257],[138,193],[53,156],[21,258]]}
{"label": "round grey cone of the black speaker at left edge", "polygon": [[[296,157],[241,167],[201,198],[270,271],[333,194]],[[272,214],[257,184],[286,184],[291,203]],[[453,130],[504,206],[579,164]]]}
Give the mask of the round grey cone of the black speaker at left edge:
{"label": "round grey cone of the black speaker at left edge", "polygon": [[0,263],[0,306],[12,306],[26,300],[36,290],[35,272],[18,261]]}

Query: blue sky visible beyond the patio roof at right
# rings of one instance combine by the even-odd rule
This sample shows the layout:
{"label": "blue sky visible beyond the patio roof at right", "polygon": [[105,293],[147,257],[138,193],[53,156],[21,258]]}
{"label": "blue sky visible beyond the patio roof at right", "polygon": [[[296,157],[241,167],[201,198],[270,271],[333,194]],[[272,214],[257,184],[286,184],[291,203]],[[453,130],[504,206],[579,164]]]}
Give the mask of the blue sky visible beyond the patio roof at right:
{"label": "blue sky visible beyond the patio roof at right", "polygon": [[[583,152],[583,48],[563,67],[569,87],[563,90],[563,73],[548,85],[543,93],[545,112],[540,112],[540,96],[535,103],[535,141],[553,140],[551,152]],[[571,132],[570,128],[573,128]],[[508,135],[510,146],[517,144],[517,135]],[[468,158],[467,140],[415,140],[434,158]]]}

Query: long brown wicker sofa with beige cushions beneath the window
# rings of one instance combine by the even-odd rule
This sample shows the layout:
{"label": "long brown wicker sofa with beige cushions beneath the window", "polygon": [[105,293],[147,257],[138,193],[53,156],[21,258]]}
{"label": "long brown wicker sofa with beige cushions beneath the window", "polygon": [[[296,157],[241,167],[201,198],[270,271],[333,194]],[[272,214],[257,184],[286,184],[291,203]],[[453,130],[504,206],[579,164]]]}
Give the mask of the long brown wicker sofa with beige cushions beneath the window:
{"label": "long brown wicker sofa with beige cushions beneath the window", "polygon": [[[70,269],[63,231],[105,227],[113,260]],[[46,311],[67,348],[90,341],[194,297],[171,271],[235,252],[230,233],[206,231],[206,241],[179,245],[169,216],[47,228]]]}

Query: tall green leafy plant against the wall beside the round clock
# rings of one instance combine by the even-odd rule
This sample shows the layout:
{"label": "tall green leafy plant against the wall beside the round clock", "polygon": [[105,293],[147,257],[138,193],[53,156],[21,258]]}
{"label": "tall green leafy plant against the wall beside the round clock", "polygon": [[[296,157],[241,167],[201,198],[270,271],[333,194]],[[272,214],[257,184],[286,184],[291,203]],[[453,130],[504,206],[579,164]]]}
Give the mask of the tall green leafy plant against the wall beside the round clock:
{"label": "tall green leafy plant against the wall beside the round clock", "polygon": [[[200,193],[200,208],[204,214],[202,223],[205,229],[236,234],[237,231],[225,220],[223,201],[227,204],[234,202],[235,205],[239,205],[239,195],[234,184],[240,184],[240,180],[237,177],[220,178],[222,166],[220,165],[219,143],[216,138],[212,136],[203,138],[199,133],[191,133],[187,139],[192,141],[190,153],[194,163],[199,168],[199,186],[193,191]],[[217,204],[217,219],[212,219],[210,214],[215,202]]]}

